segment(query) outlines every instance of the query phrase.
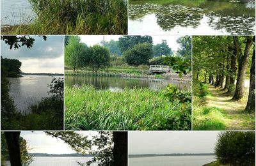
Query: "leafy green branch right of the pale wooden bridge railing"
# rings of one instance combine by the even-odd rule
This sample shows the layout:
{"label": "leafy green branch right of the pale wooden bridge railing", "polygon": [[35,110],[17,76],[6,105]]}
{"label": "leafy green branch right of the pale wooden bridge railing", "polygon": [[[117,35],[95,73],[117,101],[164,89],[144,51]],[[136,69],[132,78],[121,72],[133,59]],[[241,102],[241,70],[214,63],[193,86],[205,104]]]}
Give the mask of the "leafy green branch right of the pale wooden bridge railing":
{"label": "leafy green branch right of the pale wooden bridge railing", "polygon": [[165,63],[169,63],[169,66],[172,66],[173,70],[176,70],[180,77],[182,77],[182,74],[187,75],[191,72],[190,59],[184,59],[179,56],[168,56],[165,57]]}

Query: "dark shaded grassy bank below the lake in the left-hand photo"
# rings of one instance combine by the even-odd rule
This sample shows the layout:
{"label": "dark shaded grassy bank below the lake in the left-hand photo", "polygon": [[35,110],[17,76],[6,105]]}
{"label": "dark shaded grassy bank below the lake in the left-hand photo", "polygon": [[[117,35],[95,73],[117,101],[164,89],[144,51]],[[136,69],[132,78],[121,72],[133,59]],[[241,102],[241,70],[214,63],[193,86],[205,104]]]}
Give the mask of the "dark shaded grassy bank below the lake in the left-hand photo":
{"label": "dark shaded grassy bank below the lake in the left-hand photo", "polygon": [[31,105],[31,114],[13,114],[1,121],[2,130],[63,130],[63,100],[43,98]]}

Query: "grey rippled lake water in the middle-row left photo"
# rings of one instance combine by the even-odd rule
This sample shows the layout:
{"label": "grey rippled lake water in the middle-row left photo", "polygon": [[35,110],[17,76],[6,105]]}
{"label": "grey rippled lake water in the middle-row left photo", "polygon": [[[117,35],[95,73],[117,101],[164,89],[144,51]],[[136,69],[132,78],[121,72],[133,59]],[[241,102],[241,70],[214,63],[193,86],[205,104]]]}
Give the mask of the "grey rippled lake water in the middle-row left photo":
{"label": "grey rippled lake water in the middle-row left photo", "polygon": [[[10,81],[10,96],[12,96],[17,109],[22,114],[30,112],[30,105],[40,102],[42,98],[49,96],[48,84],[51,83],[51,76],[44,75],[22,75],[19,78],[8,78]],[[56,77],[58,78],[58,77]]]}

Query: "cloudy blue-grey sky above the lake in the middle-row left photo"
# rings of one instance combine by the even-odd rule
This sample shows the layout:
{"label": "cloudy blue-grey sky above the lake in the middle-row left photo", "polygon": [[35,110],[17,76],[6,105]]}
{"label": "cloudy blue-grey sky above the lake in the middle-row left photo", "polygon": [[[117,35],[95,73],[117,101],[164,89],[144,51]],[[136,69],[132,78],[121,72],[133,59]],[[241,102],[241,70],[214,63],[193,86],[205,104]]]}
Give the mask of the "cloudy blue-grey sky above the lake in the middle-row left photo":
{"label": "cloudy blue-grey sky above the lake in the middle-row left photo", "polygon": [[31,49],[26,46],[10,50],[10,46],[1,40],[1,56],[19,59],[20,70],[25,73],[64,73],[63,36],[42,36],[35,38]]}

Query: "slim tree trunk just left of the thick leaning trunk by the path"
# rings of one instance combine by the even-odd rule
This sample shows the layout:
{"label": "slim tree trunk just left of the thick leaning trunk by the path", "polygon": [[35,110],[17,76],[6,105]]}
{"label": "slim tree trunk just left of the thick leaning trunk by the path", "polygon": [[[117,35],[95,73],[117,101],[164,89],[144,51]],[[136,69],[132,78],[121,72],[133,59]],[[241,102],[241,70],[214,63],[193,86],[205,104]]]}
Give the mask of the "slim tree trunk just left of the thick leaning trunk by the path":
{"label": "slim tree trunk just left of the thick leaning trunk by the path", "polygon": [[231,56],[231,62],[230,62],[230,77],[229,77],[229,87],[228,87],[228,93],[233,93],[234,91],[234,86],[235,86],[235,79],[236,79],[236,59],[237,59],[237,49],[236,49],[236,44],[234,41],[234,51]]}

